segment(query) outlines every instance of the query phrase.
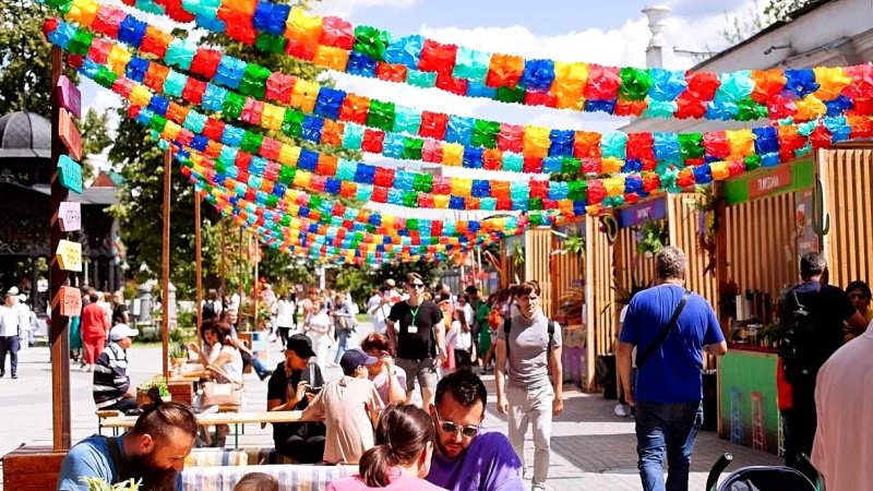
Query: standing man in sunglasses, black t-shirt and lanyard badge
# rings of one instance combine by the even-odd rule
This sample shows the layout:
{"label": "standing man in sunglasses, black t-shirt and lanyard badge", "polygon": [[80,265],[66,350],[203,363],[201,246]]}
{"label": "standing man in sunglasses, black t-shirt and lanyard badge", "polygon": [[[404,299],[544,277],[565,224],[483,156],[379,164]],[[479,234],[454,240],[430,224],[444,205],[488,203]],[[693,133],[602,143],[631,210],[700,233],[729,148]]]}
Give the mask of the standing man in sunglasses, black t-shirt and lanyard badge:
{"label": "standing man in sunglasses, black t-shirt and lanyard badge", "polygon": [[427,408],[433,403],[436,362],[445,358],[443,314],[436,303],[424,299],[424,280],[418,273],[409,273],[406,290],[409,298],[391,308],[387,319],[388,342],[397,354],[397,367],[406,372],[407,403],[412,398],[418,380],[422,407]]}

